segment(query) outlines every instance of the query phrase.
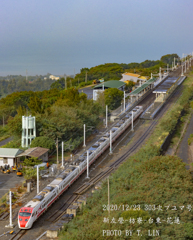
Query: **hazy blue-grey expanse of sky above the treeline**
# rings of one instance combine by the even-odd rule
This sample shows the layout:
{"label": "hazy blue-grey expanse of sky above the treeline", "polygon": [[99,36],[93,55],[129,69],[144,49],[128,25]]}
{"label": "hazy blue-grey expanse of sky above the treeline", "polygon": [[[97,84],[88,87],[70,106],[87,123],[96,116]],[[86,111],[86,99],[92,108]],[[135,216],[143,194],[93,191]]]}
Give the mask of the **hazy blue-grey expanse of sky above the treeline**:
{"label": "hazy blue-grey expanse of sky above the treeline", "polygon": [[193,52],[192,0],[1,0],[0,76]]}

